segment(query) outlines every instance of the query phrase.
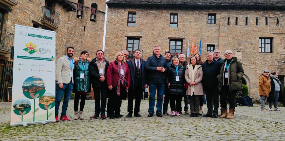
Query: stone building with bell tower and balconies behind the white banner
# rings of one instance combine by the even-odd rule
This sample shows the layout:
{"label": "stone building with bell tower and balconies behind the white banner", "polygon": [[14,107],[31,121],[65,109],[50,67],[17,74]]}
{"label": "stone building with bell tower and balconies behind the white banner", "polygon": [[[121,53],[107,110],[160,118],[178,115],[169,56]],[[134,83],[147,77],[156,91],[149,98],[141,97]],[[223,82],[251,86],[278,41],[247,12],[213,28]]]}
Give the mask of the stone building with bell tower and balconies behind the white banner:
{"label": "stone building with bell tower and balconies behind the white banner", "polygon": [[15,24],[56,31],[57,58],[68,46],[74,57],[87,50],[94,58],[102,49],[105,10],[105,0],[0,0],[0,101],[12,87]]}

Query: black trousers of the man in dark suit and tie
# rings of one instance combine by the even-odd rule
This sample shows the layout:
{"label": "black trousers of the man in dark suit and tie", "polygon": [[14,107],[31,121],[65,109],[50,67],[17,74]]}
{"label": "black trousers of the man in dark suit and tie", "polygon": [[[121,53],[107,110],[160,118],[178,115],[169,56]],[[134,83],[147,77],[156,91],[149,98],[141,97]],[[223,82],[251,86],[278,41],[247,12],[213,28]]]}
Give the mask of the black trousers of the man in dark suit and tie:
{"label": "black trousers of the man in dark suit and tie", "polygon": [[141,86],[135,87],[132,90],[129,90],[128,94],[128,112],[133,113],[133,103],[134,103],[134,97],[136,96],[136,101],[135,101],[135,107],[134,107],[134,113],[140,112],[140,101],[143,97],[143,89]]}

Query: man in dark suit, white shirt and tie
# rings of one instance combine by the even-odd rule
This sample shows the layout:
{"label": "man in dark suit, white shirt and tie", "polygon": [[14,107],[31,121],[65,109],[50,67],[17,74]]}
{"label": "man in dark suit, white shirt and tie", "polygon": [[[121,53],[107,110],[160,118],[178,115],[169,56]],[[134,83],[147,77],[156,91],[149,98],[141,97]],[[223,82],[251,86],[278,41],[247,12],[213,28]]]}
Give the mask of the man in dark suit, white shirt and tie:
{"label": "man in dark suit, white shirt and tie", "polygon": [[131,86],[129,88],[128,98],[128,115],[126,117],[132,117],[133,113],[133,102],[134,96],[136,96],[136,102],[134,107],[134,116],[141,117],[140,112],[140,101],[142,99],[143,92],[147,88],[148,81],[146,77],[145,64],[146,61],[141,59],[141,51],[136,49],[134,51],[135,58],[128,61],[128,65],[131,73]]}

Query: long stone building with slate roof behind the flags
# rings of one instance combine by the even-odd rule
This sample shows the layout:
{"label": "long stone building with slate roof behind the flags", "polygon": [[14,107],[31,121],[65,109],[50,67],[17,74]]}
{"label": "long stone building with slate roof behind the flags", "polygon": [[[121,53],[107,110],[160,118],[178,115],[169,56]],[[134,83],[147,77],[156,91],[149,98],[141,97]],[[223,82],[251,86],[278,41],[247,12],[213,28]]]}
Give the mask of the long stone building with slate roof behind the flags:
{"label": "long stone building with slate roof behind the flags", "polygon": [[[284,85],[284,0],[110,0],[107,2],[105,52],[143,50],[143,59],[159,45],[161,53],[187,51],[188,39],[202,38],[207,51],[232,50],[244,67],[243,83],[259,99],[259,75],[278,71]],[[199,52],[199,50],[197,51]],[[189,62],[189,60],[188,60]]]}

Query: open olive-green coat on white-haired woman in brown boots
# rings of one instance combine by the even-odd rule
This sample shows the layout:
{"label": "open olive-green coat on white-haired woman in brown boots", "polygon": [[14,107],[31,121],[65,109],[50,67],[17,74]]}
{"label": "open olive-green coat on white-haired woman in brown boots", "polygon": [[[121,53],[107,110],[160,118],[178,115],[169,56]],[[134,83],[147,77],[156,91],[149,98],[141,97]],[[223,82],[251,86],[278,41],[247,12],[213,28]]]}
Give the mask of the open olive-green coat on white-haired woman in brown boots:
{"label": "open olive-green coat on white-haired woman in brown boots", "polygon": [[[221,63],[220,74],[217,76],[218,78],[218,91],[221,92],[222,87],[224,85],[224,72],[225,70],[225,62],[227,59],[224,59]],[[242,67],[242,63],[237,61],[237,57],[233,57],[233,61],[229,66],[229,91],[240,91],[242,90],[242,76],[244,75],[244,68]],[[227,83],[226,83],[227,84]]]}

